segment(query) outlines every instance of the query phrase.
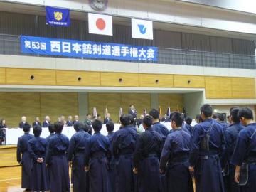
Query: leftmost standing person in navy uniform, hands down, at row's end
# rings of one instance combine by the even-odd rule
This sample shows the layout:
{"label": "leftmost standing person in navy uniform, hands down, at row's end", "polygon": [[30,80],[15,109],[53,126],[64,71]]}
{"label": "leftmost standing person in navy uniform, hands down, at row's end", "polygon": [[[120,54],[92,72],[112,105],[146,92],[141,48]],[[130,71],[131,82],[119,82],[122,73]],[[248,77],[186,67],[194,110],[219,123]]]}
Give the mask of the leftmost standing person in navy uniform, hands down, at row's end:
{"label": "leftmost standing person in navy uniform, hands down, at row's end", "polygon": [[24,135],[18,137],[17,144],[17,161],[21,164],[21,188],[26,188],[25,191],[30,191],[31,188],[31,169],[32,159],[28,153],[28,141],[33,138],[32,134],[29,134],[31,129],[30,124],[27,122],[23,125]]}

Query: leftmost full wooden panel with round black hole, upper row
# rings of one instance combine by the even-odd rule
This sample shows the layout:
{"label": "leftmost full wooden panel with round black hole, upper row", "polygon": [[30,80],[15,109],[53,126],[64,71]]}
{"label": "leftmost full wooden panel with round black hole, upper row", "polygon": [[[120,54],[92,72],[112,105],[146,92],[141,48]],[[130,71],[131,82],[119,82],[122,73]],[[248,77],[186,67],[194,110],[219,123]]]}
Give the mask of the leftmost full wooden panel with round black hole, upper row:
{"label": "leftmost full wooden panel with round black hole, upper row", "polygon": [[[31,75],[34,75],[33,80],[31,80]],[[6,68],[6,83],[11,85],[56,85],[55,70]]]}

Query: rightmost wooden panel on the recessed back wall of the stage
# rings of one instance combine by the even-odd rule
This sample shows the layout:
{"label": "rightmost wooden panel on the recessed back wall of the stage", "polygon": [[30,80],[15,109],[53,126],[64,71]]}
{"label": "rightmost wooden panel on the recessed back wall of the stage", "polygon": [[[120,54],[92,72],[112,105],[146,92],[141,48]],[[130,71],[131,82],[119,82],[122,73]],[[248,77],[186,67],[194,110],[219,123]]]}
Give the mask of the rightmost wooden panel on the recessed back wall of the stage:
{"label": "rightmost wooden panel on the recessed back wall of the stage", "polygon": [[183,94],[169,94],[161,93],[159,94],[159,106],[161,107],[162,115],[167,112],[167,108],[171,108],[171,112],[179,110],[183,111],[184,97]]}

